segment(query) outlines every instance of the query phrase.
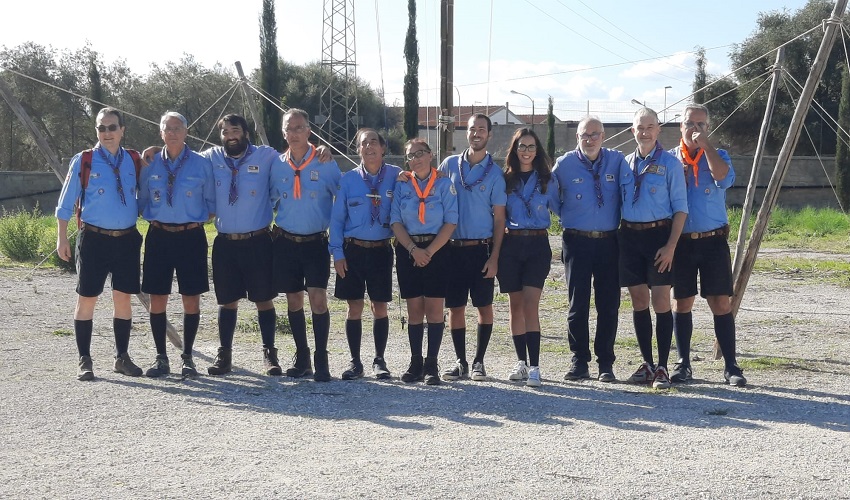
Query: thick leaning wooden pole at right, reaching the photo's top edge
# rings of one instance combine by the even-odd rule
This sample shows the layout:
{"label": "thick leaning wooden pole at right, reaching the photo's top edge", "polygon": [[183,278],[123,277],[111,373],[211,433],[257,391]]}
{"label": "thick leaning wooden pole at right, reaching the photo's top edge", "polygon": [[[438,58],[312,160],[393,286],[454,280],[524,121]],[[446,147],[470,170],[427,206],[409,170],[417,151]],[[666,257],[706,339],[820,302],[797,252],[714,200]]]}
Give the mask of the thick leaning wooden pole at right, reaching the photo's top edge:
{"label": "thick leaning wooden pole at right, reaching the photo's top edge", "polygon": [[753,234],[750,237],[750,242],[747,245],[746,255],[741,264],[741,272],[735,280],[734,294],[732,295],[732,312],[738,312],[741,307],[741,300],[744,292],[747,289],[747,283],[750,275],[753,272],[756,255],[758,254],[759,246],[761,245],[764,233],[767,230],[767,223],[770,221],[770,214],[773,207],[776,205],[776,199],[779,197],[779,188],[782,186],[782,181],[785,179],[785,174],[788,172],[788,165],[791,163],[791,157],[794,156],[794,150],[797,147],[797,141],[800,139],[800,133],[803,130],[803,120],[806,116],[809,106],[812,102],[815,89],[820,84],[820,79],[823,76],[823,71],[826,68],[829,53],[832,45],[835,42],[838,29],[841,26],[841,20],[844,12],[847,10],[847,0],[838,0],[832,10],[830,18],[826,20],[823,40],[821,41],[818,54],[812,63],[812,70],[809,72],[809,77],[806,79],[806,84],[803,86],[803,92],[800,95],[800,100],[797,103],[797,108],[794,110],[794,116],[791,118],[791,125],[788,128],[788,133],[785,136],[785,142],[782,144],[782,150],[779,152],[779,157],[776,159],[776,168],[770,178],[770,184],[767,186],[767,191],[764,194],[764,202],[759,209],[756,217],[755,226],[753,226]]}

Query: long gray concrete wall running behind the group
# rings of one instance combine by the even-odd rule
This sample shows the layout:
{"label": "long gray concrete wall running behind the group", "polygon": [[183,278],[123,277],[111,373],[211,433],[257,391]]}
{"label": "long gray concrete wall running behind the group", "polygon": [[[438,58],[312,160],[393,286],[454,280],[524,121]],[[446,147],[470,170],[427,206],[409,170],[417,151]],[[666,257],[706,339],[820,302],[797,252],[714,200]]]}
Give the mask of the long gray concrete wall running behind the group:
{"label": "long gray concrete wall running behind the group", "polygon": [[[565,135],[569,130],[568,124],[563,124],[564,130],[560,134],[561,144],[566,145],[566,149],[575,148],[575,124],[572,124],[571,143],[566,141]],[[611,134],[613,127],[608,127],[606,131]],[[510,131],[507,127],[496,128],[495,133],[513,134],[515,128],[511,127]],[[616,130],[616,129],[614,129]],[[667,128],[663,131],[665,142],[662,144],[675,144],[674,140],[668,140],[667,137],[671,133],[678,134],[678,129],[675,128],[671,132]],[[510,137],[510,135],[508,135]],[[622,140],[619,140],[623,137]],[[631,136],[623,134],[615,141],[619,144]],[[675,136],[678,138],[678,135]],[[463,142],[459,144],[467,144],[465,135],[461,137]],[[622,147],[621,150],[630,151],[633,140],[628,144],[628,147]],[[507,140],[505,140],[507,145]],[[614,145],[608,145],[613,147]],[[435,145],[432,144],[432,147]],[[558,146],[562,147],[562,146]],[[458,151],[462,151],[459,148]],[[491,149],[491,151],[493,151]],[[494,154],[499,164],[503,164],[504,150],[501,154]],[[356,160],[356,158],[355,158]],[[353,164],[344,158],[338,158],[337,162],[343,171],[351,170]],[[389,156],[387,162],[395,165],[404,165],[404,160],[400,156]],[[821,164],[823,162],[823,164]],[[735,167],[736,181],[735,185],[728,191],[727,200],[730,205],[742,206],[747,191],[747,183],[750,179],[752,171],[753,158],[751,156],[732,156],[732,165]],[[775,156],[766,156],[759,168],[759,176],[756,190],[755,206],[761,205],[764,199],[764,191],[770,182],[770,176],[776,165]],[[825,170],[825,171],[824,171]],[[804,206],[814,207],[831,207],[838,208],[838,202],[835,199],[835,194],[830,187],[830,179],[835,180],[835,161],[832,157],[824,157],[818,160],[817,157],[798,156],[791,162],[791,167],[785,176],[782,191],[779,194],[779,204],[787,208],[802,208]],[[62,184],[52,172],[0,172],[0,206],[6,210],[24,209],[32,210],[36,203],[39,204],[41,211],[45,214],[52,214],[56,201],[59,198],[59,191],[62,189]]]}

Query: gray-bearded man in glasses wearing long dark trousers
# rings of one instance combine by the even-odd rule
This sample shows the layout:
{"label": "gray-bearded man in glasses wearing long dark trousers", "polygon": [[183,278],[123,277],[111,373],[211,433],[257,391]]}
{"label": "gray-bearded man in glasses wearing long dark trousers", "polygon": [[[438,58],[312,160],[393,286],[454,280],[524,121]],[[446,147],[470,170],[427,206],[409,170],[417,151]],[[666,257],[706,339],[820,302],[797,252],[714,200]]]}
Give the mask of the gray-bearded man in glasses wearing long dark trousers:
{"label": "gray-bearded man in glasses wearing long dark trousers", "polygon": [[590,297],[595,292],[596,337],[593,350],[598,378],[613,382],[614,339],[620,309],[617,226],[620,224],[620,176],[628,170],[623,154],[602,147],[605,128],[587,116],[576,129],[576,149],[558,158],[552,175],[561,189],[561,260],[566,269],[570,310],[568,339],[573,359],[566,380],[590,378]]}

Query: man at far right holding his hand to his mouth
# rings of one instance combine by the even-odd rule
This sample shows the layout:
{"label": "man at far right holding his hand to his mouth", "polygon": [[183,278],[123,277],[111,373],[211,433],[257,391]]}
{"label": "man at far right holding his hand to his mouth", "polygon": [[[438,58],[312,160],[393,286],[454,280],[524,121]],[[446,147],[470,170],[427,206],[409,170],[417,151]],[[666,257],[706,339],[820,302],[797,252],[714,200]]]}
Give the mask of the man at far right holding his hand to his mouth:
{"label": "man at far right holding his hand to his mouth", "polygon": [[679,361],[670,374],[673,382],[693,378],[690,348],[694,323],[691,310],[697,294],[705,297],[714,315],[714,334],[723,353],[726,383],[742,387],[747,379],[735,361],[735,317],[732,295],[732,260],[729,256],[729,219],[726,190],[735,182],[729,155],[715,149],[708,138],[711,128],[708,108],[689,104],[682,112],[679,146],[670,150],[684,167],[688,192],[688,219],[673,258],[673,321]]}

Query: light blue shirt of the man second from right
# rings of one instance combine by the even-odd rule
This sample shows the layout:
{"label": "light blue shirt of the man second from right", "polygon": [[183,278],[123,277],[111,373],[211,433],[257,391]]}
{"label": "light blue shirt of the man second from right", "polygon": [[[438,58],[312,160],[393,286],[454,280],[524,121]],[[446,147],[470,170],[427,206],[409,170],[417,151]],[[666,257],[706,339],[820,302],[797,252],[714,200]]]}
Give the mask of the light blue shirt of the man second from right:
{"label": "light blue shirt of the man second from right", "polygon": [[[656,147],[660,145],[656,143]],[[657,162],[652,162],[652,157],[653,153],[650,153],[646,158],[640,158],[638,150],[626,157],[629,168],[620,177],[623,220],[652,222],[670,219],[676,212],[688,213],[682,164],[667,151],[661,151]],[[635,171],[642,176],[637,201],[634,199],[638,182]]]}

